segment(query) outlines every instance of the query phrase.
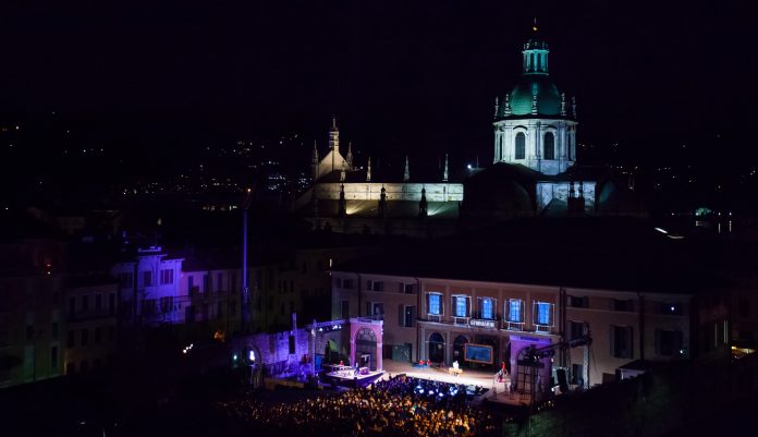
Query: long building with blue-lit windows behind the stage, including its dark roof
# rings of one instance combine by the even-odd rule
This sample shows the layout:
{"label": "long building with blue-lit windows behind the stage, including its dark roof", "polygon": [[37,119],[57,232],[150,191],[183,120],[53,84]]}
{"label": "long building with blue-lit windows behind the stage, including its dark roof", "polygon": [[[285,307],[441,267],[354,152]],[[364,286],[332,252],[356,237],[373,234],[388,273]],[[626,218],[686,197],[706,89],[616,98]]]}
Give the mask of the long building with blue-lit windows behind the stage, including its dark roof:
{"label": "long building with blue-lit windows behind the stage, including its dark roof", "polygon": [[[705,286],[681,276],[686,267],[664,262],[675,252],[668,239],[644,223],[565,220],[337,266],[332,317],[383,319],[386,359],[441,366],[457,361],[494,371],[504,362],[515,369],[525,347],[559,344],[552,366],[573,384],[613,380],[636,360],[693,356],[693,298]],[[577,245],[553,259],[562,233]],[[614,257],[609,238],[634,255]],[[633,242],[644,248],[631,248]],[[588,355],[583,347],[565,347],[584,336],[591,338]],[[466,344],[491,348],[489,362],[468,360]]]}

